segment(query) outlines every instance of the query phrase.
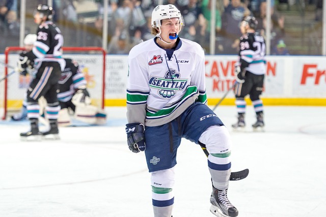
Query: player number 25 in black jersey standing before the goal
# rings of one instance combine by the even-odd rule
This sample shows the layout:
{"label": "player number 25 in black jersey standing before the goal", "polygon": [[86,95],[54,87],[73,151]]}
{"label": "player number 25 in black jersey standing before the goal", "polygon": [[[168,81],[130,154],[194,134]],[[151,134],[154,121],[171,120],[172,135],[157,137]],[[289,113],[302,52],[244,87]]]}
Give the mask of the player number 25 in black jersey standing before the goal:
{"label": "player number 25 in black jersey standing before the goal", "polygon": [[[38,5],[34,12],[34,21],[39,25],[37,30],[37,41],[32,51],[28,52],[27,59],[34,60],[34,67],[37,70],[27,91],[28,118],[31,122],[31,129],[20,133],[22,139],[53,137],[59,139],[58,114],[60,105],[57,98],[58,80],[65,68],[65,61],[62,58],[63,36],[60,29],[52,23],[54,14],[52,7]],[[26,60],[27,62],[27,60]],[[23,63],[22,63],[23,64]],[[47,101],[46,114],[49,119],[50,128],[44,132],[39,131],[38,118],[40,106],[38,99],[44,96]]]}

